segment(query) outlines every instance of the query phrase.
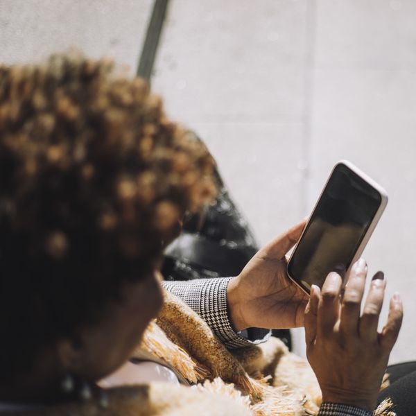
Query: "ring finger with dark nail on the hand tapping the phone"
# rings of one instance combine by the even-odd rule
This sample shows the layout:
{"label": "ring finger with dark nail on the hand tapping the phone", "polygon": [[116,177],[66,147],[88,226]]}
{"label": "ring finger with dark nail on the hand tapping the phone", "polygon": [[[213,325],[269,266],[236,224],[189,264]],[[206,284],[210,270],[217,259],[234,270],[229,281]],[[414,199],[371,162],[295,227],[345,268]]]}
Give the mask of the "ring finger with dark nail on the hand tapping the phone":
{"label": "ring finger with dark nail on the hand tapping the phone", "polygon": [[372,278],[370,291],[365,300],[363,315],[358,325],[360,338],[367,339],[370,342],[376,341],[379,337],[377,327],[379,325],[379,316],[383,306],[385,290],[385,280],[383,272],[376,272]]}

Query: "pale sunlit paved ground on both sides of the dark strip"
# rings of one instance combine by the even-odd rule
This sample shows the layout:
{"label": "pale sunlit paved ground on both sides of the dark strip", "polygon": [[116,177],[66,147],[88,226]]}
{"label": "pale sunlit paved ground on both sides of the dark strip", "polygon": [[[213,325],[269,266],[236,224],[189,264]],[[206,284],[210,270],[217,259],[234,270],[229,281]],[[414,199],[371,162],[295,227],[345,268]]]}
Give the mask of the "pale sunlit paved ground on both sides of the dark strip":
{"label": "pale sunlit paved ground on both sides of the dark strip", "polygon": [[[134,71],[152,3],[0,0],[0,60],[76,45]],[[365,257],[404,298],[391,362],[416,358],[415,46],[413,0],[171,0],[153,78],[261,243],[309,214],[338,159],[383,184],[390,202]]]}

